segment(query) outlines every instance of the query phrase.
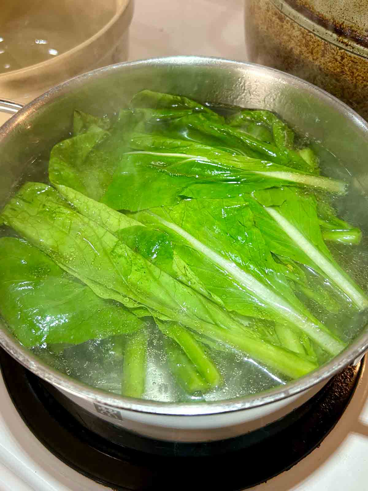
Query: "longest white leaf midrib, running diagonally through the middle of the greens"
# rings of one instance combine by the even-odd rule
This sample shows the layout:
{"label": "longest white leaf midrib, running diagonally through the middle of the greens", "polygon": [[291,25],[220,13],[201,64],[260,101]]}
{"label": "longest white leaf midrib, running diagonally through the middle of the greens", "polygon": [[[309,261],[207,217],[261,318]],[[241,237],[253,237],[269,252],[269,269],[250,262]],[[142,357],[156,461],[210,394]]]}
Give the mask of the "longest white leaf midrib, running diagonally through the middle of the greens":
{"label": "longest white leaf midrib, running diagonally through the middle of the greens", "polygon": [[312,322],[303,314],[295,311],[291,305],[283,298],[279,297],[272,290],[264,286],[260,281],[254,278],[251,274],[241,270],[235,263],[224,258],[217,252],[205,246],[195,237],[188,234],[183,228],[175,223],[169,222],[164,218],[159,217],[153,212],[148,211],[151,216],[155,217],[165,227],[170,228],[177,234],[181,235],[191,246],[199,252],[205,254],[211,261],[217,264],[220,268],[229,273],[237,280],[244,288],[250,291],[255,297],[262,300],[265,305],[271,307],[279,315],[284,316],[289,322],[299,327],[308,336],[310,336],[317,344],[322,346],[331,355],[337,355],[344,348],[344,344],[332,337],[328,332],[325,332],[323,326],[316,320]]}

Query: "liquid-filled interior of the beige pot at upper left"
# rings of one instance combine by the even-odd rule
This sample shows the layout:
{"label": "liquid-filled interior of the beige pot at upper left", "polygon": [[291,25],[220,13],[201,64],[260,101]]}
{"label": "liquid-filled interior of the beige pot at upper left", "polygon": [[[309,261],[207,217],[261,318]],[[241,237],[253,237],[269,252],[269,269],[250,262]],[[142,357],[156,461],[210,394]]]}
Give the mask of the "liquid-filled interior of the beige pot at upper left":
{"label": "liquid-filled interior of the beige pot at upper left", "polygon": [[113,17],[115,1],[2,2],[0,73],[46,61],[79,45]]}

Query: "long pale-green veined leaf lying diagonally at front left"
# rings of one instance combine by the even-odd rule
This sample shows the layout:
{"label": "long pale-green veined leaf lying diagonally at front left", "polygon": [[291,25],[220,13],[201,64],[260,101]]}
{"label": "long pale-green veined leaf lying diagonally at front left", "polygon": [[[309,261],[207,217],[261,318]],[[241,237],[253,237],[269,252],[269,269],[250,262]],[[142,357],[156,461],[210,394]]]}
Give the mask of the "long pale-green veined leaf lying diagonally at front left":
{"label": "long pale-green veined leaf lying diagonally at front left", "polygon": [[[206,332],[213,326],[229,329],[238,325],[216,304],[159,270],[97,222],[75,212],[46,185],[25,185],[6,205],[2,218],[96,294],[121,301],[136,315],[151,314]],[[245,340],[242,350],[246,344]],[[269,350],[264,341],[256,343],[252,352],[268,364]],[[282,350],[279,352],[281,355]],[[272,353],[270,356],[274,363]],[[297,369],[288,366],[292,362],[286,355],[280,370],[290,377],[305,370],[303,363]]]}

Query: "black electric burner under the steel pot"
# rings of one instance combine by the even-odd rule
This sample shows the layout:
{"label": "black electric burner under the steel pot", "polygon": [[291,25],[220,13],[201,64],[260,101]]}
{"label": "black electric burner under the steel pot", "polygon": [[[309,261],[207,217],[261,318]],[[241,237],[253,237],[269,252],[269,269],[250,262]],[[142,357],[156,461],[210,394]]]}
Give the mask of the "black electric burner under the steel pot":
{"label": "black electric burner under the steel pot", "polygon": [[113,490],[252,488],[319,446],[348,405],[361,364],[347,367],[301,408],[244,436],[173,443],[133,435],[77,407],[0,349],[10,397],[32,433],[60,460]]}

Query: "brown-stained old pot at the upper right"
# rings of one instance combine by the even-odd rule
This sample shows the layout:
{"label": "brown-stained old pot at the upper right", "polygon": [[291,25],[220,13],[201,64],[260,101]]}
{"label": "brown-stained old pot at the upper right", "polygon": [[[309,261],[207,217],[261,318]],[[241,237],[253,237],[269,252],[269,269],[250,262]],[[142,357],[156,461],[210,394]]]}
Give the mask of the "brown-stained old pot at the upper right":
{"label": "brown-stained old pot at the upper right", "polygon": [[368,119],[367,3],[245,0],[248,59],[327,90]]}

